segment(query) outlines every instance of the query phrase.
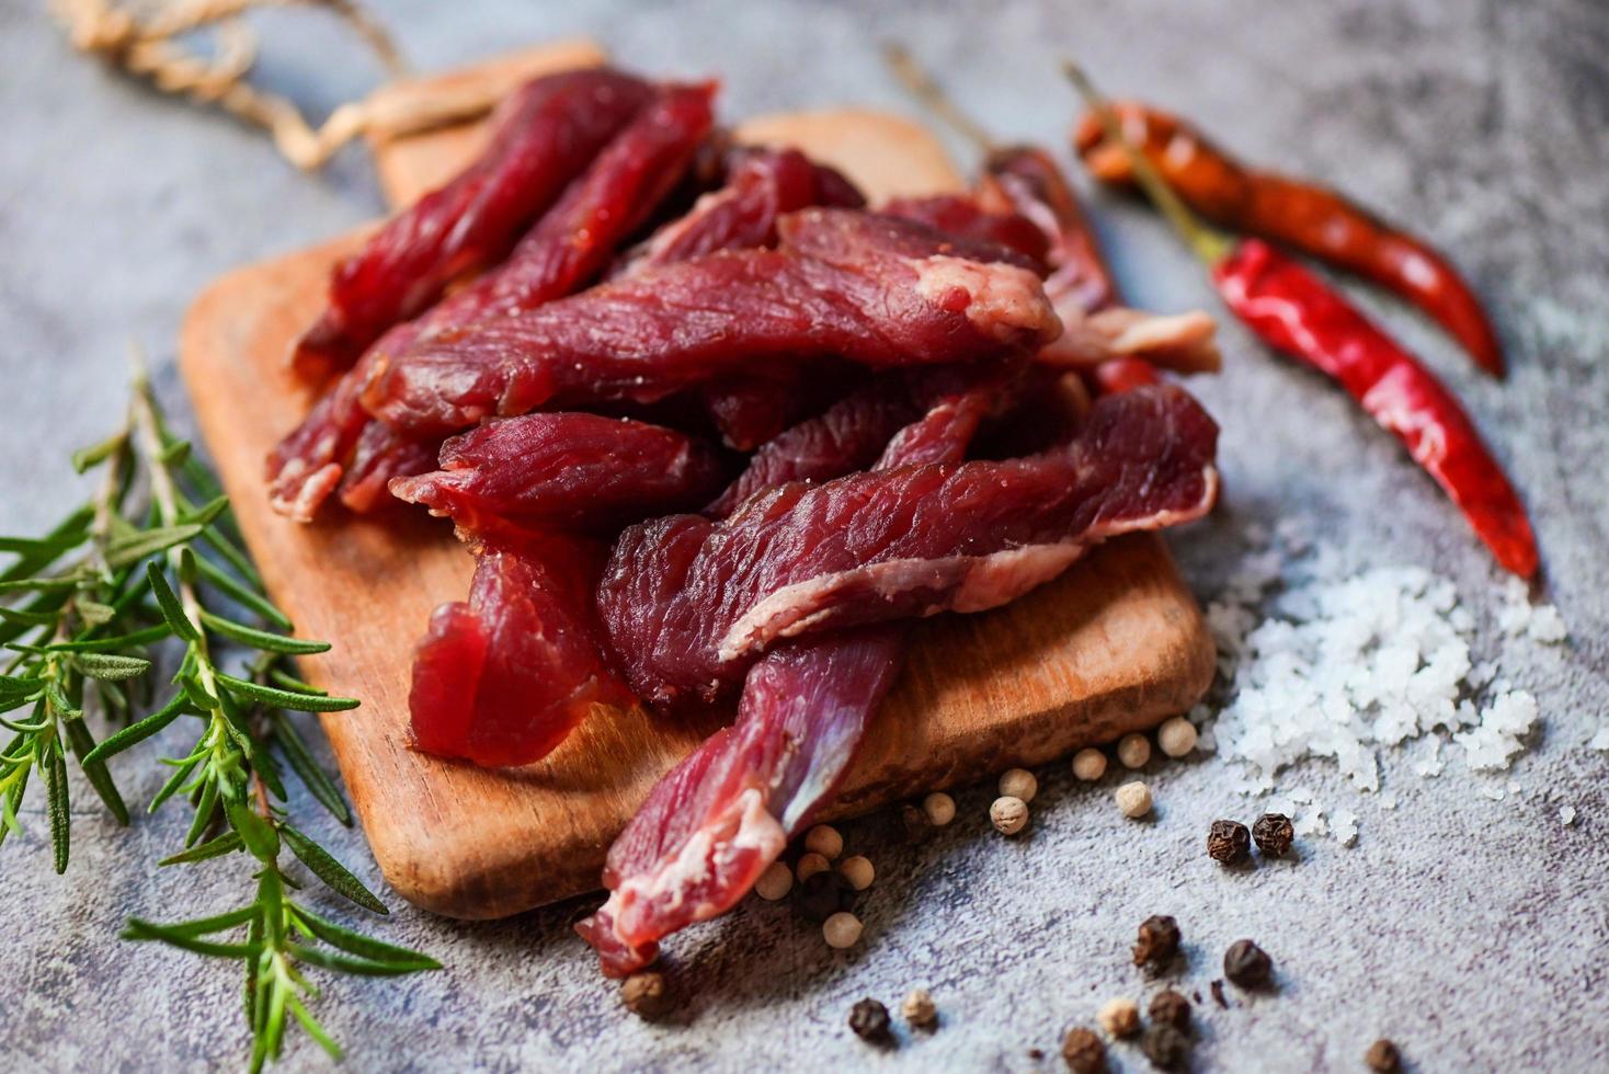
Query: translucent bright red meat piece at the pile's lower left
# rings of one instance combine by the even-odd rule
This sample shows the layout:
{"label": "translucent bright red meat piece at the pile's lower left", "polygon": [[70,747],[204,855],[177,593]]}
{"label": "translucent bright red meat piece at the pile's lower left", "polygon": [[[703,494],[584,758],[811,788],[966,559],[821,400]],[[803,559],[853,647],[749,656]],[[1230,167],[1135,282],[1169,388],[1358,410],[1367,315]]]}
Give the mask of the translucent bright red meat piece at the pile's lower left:
{"label": "translucent bright red meat piece at the pile's lower left", "polygon": [[631,693],[599,648],[600,547],[529,535],[484,547],[470,600],[442,605],[414,659],[414,744],[479,765],[529,764],[594,704]]}

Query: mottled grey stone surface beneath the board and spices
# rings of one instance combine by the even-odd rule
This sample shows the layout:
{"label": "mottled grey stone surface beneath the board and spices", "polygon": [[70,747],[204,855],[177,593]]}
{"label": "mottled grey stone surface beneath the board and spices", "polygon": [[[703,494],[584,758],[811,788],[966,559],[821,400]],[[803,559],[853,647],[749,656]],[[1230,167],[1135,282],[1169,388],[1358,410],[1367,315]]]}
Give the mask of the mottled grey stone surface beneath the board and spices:
{"label": "mottled grey stone surface beneath the board and spices", "polygon": [[[211,277],[373,215],[367,159],[294,172],[256,132],[145,92],[74,56],[42,3],[0,0],[0,531],[42,527],[72,495],[71,447],[122,404],[126,346],[172,370],[180,315]],[[983,788],[943,838],[906,847],[888,818],[846,826],[879,883],[866,942],[829,952],[813,926],[747,902],[671,944],[687,995],[676,1024],[624,1016],[566,929],[578,907],[460,924],[396,905],[368,923],[447,965],[405,982],[339,979],[317,1010],[349,1069],[1057,1069],[1060,1032],[1149,986],[1128,965],[1134,926],[1173,913],[1187,990],[1223,949],[1257,937],[1278,992],[1231,989],[1199,1008],[1200,1069],[1361,1069],[1395,1037],[1421,1071],[1609,1069],[1609,760],[1585,743],[1609,719],[1603,595],[1609,540],[1609,8],[1603,0],[1265,3],[375,3],[422,69],[587,32],[647,71],[724,77],[729,114],[864,101],[909,108],[875,45],[898,37],[946,72],[1002,135],[1062,145],[1076,51],[1113,93],[1179,108],[1252,159],[1334,175],[1435,235],[1492,301],[1512,355],[1506,386],[1471,373],[1426,323],[1369,299],[1467,399],[1529,490],[1546,595],[1572,630],[1561,666],[1511,666],[1546,728],[1492,802],[1455,759],[1422,781],[1387,756],[1384,812],[1324,765],[1298,772],[1361,817],[1356,847],[1305,841],[1247,873],[1202,852],[1207,823],[1250,817],[1218,759],[1157,764],[1157,814],[1123,822],[1113,780],[1043,778],[1028,838],[986,828]],[[323,109],[377,77],[323,16],[272,13],[261,77]],[[957,151],[965,146],[957,145]],[[1210,304],[1200,275],[1147,214],[1101,199],[1136,304]],[[1315,376],[1224,330],[1229,367],[1200,392],[1224,423],[1226,508],[1176,535],[1210,596],[1249,523],[1307,519],[1347,569],[1422,564],[1483,617],[1496,576],[1461,521],[1387,437]],[[1482,648],[1495,650],[1490,630]],[[356,717],[356,719],[360,719]],[[179,743],[167,741],[177,749]],[[1453,751],[1456,752],[1456,751]],[[148,799],[153,749],[116,764]],[[0,1039],[8,1069],[203,1071],[240,1064],[232,968],[116,939],[126,915],[196,915],[248,889],[240,860],[158,873],[175,812],[114,828],[77,794],[72,868],[50,871],[37,794],[27,836],[0,851]],[[1562,804],[1575,826],[1558,820]],[[357,831],[306,823],[378,884]],[[343,920],[354,915],[315,896]],[[397,900],[393,899],[396,904]],[[320,976],[322,978],[322,976]],[[845,1029],[862,995],[932,989],[941,1029],[877,1051]],[[1035,1058],[1043,1048],[1047,1058]],[[1133,1048],[1115,1066],[1144,1069]],[[328,1061],[306,1040],[291,1069]]]}

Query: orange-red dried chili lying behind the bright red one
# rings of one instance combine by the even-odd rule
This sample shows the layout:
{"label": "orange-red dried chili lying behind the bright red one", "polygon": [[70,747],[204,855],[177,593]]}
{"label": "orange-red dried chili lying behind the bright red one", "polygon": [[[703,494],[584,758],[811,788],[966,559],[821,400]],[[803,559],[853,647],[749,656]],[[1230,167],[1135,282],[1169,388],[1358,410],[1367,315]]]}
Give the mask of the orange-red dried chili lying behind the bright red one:
{"label": "orange-red dried chili lying behind the bright red one", "polygon": [[[1480,368],[1503,376],[1503,346],[1480,299],[1424,240],[1393,228],[1334,190],[1247,167],[1163,111],[1136,101],[1112,108],[1128,140],[1191,209],[1395,291],[1440,323]],[[1080,121],[1073,141],[1096,178],[1136,182],[1128,154],[1105,137],[1094,114]]]}

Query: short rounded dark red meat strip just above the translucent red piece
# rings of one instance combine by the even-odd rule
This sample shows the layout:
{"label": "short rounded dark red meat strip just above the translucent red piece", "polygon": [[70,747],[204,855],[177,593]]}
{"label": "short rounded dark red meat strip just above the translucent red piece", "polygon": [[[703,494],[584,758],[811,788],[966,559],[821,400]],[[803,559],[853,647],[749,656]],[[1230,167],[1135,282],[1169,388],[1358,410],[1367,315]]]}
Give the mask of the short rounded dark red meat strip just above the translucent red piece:
{"label": "short rounded dark red meat strip just above the translucent red piece", "polygon": [[504,418],[441,445],[441,469],[391,492],[452,518],[460,534],[507,527],[591,531],[705,502],[724,471],[714,450],[645,421],[591,413]]}

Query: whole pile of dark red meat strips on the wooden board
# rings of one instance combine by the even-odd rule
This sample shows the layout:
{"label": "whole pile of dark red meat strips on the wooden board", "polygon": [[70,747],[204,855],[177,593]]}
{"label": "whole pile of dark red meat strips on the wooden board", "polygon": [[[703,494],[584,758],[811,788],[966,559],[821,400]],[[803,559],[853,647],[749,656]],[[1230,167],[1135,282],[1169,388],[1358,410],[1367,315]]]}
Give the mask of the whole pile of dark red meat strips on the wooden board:
{"label": "whole pile of dark red meat strips on the wooden board", "polygon": [[1210,318],[1117,307],[1047,158],[869,209],[732,145],[713,98],[607,69],[515,93],[335,268],[294,355],[325,392],[269,461],[293,518],[405,500],[475,553],[418,646],[420,749],[520,765],[600,703],[735,699],[610,852],[581,924],[610,974],[811,822],[909,621],[1216,492],[1212,420],[1154,368],[1215,368]]}

